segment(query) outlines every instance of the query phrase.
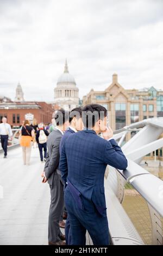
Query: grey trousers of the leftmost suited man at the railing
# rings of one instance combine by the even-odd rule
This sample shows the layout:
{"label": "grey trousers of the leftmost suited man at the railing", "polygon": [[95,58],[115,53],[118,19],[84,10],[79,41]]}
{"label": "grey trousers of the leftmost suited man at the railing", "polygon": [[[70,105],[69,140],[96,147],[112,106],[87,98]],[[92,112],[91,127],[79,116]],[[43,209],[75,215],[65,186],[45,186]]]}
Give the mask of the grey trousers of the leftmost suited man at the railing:
{"label": "grey trousers of the leftmost suited man at the railing", "polygon": [[48,241],[55,243],[61,241],[59,221],[64,208],[64,185],[61,182],[60,174],[55,172],[53,183],[49,186],[51,189],[51,205],[48,219]]}

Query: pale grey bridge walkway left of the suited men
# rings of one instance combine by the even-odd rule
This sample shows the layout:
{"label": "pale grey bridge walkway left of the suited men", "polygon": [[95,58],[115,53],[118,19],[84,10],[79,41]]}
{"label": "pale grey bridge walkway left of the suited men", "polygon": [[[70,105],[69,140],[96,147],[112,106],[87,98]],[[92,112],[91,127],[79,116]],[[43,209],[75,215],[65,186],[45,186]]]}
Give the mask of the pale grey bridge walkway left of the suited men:
{"label": "pale grey bridge walkway left of the suited men", "polygon": [[47,245],[50,193],[41,182],[43,167],[38,148],[30,166],[23,165],[21,148],[8,151],[8,159],[0,153],[0,245]]}

